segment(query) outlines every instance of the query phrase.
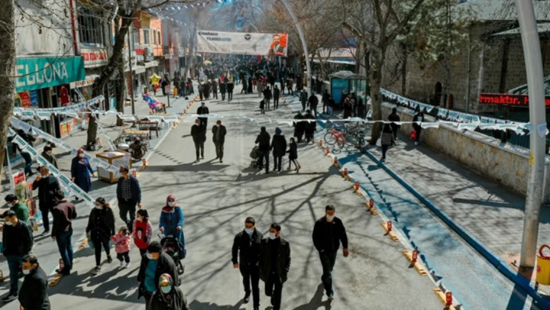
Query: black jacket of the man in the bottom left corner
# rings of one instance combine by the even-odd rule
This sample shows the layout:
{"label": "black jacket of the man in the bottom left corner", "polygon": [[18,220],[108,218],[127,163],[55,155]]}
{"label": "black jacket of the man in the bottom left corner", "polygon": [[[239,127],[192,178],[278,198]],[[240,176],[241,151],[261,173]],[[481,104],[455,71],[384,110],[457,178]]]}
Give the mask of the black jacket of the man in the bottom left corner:
{"label": "black jacket of the man in the bottom left corner", "polygon": [[25,310],[50,310],[48,277],[40,266],[25,275],[18,298]]}

